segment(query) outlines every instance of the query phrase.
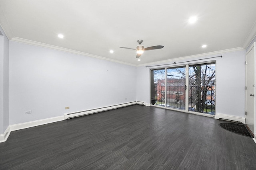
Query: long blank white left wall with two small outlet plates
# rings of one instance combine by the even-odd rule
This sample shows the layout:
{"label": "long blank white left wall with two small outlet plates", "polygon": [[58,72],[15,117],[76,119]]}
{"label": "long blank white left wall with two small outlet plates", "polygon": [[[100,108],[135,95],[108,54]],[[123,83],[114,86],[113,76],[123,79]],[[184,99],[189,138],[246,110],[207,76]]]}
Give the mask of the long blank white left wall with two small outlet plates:
{"label": "long blank white left wall with two small outlet plates", "polygon": [[134,66],[14,41],[9,48],[10,125],[136,101]]}

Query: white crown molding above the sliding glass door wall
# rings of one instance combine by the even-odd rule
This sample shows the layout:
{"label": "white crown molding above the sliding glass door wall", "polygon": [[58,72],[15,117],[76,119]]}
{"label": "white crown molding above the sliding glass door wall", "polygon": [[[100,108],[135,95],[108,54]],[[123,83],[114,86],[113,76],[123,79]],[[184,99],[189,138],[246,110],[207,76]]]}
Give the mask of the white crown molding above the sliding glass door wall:
{"label": "white crown molding above the sliding glass door wall", "polygon": [[139,65],[137,65],[137,67],[139,67],[139,66],[148,66],[148,65],[156,65],[156,64],[160,64],[160,63],[168,63],[168,62],[174,62],[174,61],[180,61],[180,60],[186,60],[186,59],[194,59],[194,58],[197,58],[197,57],[206,57],[206,56],[209,56],[209,55],[220,55],[220,54],[231,53],[231,52],[236,52],[236,51],[244,51],[244,48],[237,47],[237,48],[233,48],[233,49],[214,51],[214,52],[210,52],[210,53],[202,53],[202,54],[190,55],[190,56],[186,56],[186,57],[178,57],[178,58],[174,58],[174,59],[156,61],[156,62],[152,62],[152,63],[139,64]]}

